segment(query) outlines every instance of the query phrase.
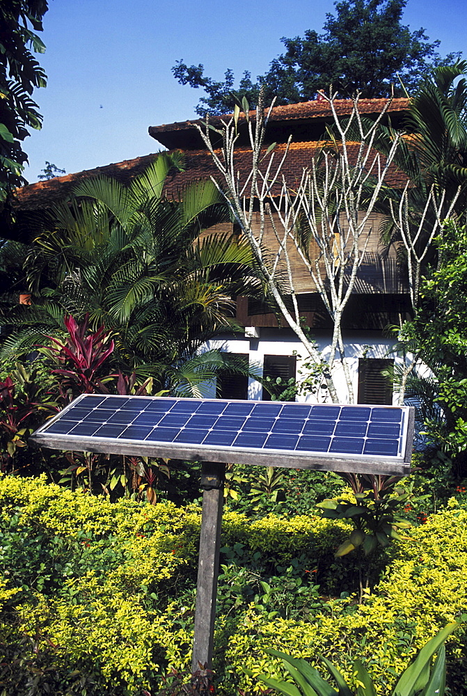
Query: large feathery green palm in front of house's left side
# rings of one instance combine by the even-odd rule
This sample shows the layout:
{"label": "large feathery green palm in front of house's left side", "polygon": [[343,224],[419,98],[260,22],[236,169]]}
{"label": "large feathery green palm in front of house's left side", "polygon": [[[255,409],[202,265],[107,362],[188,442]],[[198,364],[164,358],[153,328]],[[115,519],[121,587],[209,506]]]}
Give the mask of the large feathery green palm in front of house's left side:
{"label": "large feathery green palm in front of house's left side", "polygon": [[[113,333],[113,361],[124,371],[157,377],[159,387],[199,393],[225,370],[224,356],[198,351],[235,328],[232,296],[260,292],[251,250],[233,235],[202,235],[228,219],[211,182],[162,195],[177,155],[163,152],[128,186],[108,177],[79,184],[57,205],[26,261],[33,306],[15,307],[16,330],[3,354],[43,342],[63,316],[89,315]],[[243,368],[244,369],[244,368]]]}

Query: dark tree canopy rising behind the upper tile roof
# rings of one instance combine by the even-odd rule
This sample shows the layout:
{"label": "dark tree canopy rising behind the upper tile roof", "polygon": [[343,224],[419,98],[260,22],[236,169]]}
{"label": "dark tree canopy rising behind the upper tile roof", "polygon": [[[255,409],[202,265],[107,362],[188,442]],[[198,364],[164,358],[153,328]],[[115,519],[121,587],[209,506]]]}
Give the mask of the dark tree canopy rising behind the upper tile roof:
{"label": "dark tree canopy rising behind the upper tile roof", "polygon": [[[322,34],[307,30],[303,38],[282,38],[286,52],[274,58],[269,72],[255,83],[244,72],[237,94],[255,106],[260,86],[266,90],[266,102],[276,97],[276,104],[315,99],[317,90],[331,84],[342,97],[356,91],[363,97],[387,97],[393,85],[396,93],[404,94],[404,88],[410,92],[434,66],[451,63],[456,56],[442,61],[436,51],[439,41],[430,43],[424,29],[411,31],[401,24],[406,2],[335,2],[335,15],[326,15]],[[207,96],[196,109],[200,116],[232,111],[232,70],[225,72],[224,81],[206,77],[203,65],[188,66],[182,60],[172,70],[181,84],[205,90]]]}

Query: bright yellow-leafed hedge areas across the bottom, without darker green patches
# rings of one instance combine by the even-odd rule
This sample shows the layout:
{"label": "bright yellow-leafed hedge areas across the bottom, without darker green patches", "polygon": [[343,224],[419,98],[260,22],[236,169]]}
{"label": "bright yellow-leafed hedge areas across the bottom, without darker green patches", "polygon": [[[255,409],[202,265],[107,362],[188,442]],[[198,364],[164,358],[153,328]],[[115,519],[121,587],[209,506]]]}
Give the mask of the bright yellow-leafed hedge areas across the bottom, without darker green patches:
{"label": "bright yellow-leafed hedge areas across the bottom, without darker green patches", "polygon": [[[121,696],[139,696],[141,688],[154,691],[157,675],[166,667],[189,667],[193,606],[189,601],[182,606],[179,595],[187,578],[192,583],[196,574],[198,507],[109,503],[43,478],[2,477],[0,509],[2,528],[16,515],[25,533],[42,530],[51,538],[83,544],[96,561],[101,548],[105,553],[115,548],[121,557],[108,572],[98,564],[82,574],[77,569],[53,592],[19,589],[6,576],[0,586],[1,635],[8,634],[11,641],[24,634],[34,637],[57,670],[88,670],[103,690],[111,686]],[[225,670],[221,693],[233,696],[238,688],[259,692],[259,683],[242,672],[244,667],[257,674],[282,674],[280,665],[264,654],[267,647],[314,663],[324,654],[347,674],[351,661],[362,658],[378,680],[379,693],[386,693],[416,649],[467,612],[466,523],[467,512],[452,502],[410,530],[385,577],[361,606],[352,598],[329,600],[312,621],[303,622],[267,619],[254,606],[219,617],[216,644],[222,651],[216,665],[219,672]],[[224,543],[240,541],[284,560],[309,554],[310,548],[329,557],[347,530],[343,523],[315,516],[271,515],[252,522],[229,510],[223,523]],[[152,601],[152,592],[163,599]],[[467,693],[456,681],[457,671],[465,671],[465,647],[460,633],[448,649],[456,696]]]}

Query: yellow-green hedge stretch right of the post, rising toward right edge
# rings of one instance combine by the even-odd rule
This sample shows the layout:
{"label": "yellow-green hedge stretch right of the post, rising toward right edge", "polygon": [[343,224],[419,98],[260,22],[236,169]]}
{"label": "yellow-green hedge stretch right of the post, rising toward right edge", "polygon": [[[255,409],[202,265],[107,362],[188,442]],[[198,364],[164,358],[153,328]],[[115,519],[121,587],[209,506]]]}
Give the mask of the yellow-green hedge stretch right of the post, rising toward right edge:
{"label": "yellow-green hedge stretch right of the post, rising toward right edge", "polygon": [[[356,606],[351,599],[331,600],[326,611],[311,621],[275,618],[267,620],[254,608],[243,617],[243,631],[230,637],[225,661],[235,674],[241,667],[253,674],[269,672],[282,679],[279,661],[271,663],[264,650],[274,649],[294,658],[310,660],[317,666],[317,655],[338,665],[355,688],[353,664],[365,663],[378,694],[390,693],[415,652],[448,622],[466,612],[467,557],[465,553],[467,513],[453,507],[429,517],[399,541],[393,560],[381,583],[365,592],[365,601]],[[448,686],[451,693],[464,696],[464,628],[450,642]],[[242,682],[255,688],[254,679]],[[255,688],[258,690],[258,687]]]}

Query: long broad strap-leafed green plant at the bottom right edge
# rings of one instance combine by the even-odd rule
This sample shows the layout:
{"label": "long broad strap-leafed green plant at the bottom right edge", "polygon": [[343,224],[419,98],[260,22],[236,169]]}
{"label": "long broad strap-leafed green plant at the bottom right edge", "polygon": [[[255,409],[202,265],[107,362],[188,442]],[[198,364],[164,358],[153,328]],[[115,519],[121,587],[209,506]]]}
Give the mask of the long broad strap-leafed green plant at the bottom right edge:
{"label": "long broad strap-leafed green plant at the bottom right edge", "polygon": [[[420,649],[415,660],[399,677],[393,696],[443,696],[446,684],[446,660],[444,642],[448,636],[459,627],[457,622],[452,622],[442,628],[431,640]],[[352,688],[347,684],[339,670],[334,665],[321,657],[329,674],[337,685],[337,690],[329,681],[323,679],[318,670],[312,667],[306,660],[296,659],[278,650],[269,649],[267,654],[280,658],[293,683],[290,681],[278,681],[264,675],[258,679],[285,696],[376,696],[375,685],[367,670],[361,663],[354,662],[354,676],[357,684]],[[432,664],[432,657],[437,653]],[[246,670],[247,674],[253,674]]]}

